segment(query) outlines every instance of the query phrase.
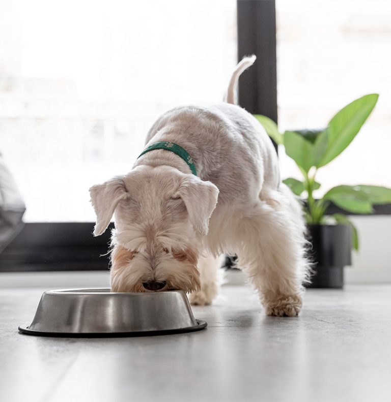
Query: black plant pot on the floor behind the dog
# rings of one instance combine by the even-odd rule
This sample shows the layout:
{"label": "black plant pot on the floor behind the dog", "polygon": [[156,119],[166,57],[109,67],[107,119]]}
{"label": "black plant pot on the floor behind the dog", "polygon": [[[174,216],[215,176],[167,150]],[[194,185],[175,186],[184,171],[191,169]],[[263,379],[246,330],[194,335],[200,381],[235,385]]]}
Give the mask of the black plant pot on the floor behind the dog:
{"label": "black plant pot on the floor behind the dog", "polygon": [[351,264],[352,235],[347,225],[308,225],[314,262],[312,283],[307,288],[343,288],[344,266]]}

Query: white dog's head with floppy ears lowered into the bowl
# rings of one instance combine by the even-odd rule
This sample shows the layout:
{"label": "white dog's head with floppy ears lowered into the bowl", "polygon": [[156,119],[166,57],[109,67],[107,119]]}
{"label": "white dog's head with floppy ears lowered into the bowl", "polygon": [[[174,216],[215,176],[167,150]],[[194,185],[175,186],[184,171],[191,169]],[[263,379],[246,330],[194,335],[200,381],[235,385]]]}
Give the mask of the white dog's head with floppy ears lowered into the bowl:
{"label": "white dog's head with floppy ears lowered into the bowl", "polygon": [[169,166],[138,166],[90,194],[95,236],[115,216],[111,290],[199,290],[197,260],[217,203],[214,184]]}

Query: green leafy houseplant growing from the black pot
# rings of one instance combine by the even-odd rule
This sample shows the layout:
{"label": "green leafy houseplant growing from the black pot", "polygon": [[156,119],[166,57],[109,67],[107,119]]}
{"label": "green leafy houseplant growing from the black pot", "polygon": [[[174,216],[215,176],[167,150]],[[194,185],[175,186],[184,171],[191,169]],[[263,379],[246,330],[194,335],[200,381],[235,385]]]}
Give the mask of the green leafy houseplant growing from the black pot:
{"label": "green leafy houseplant growing from the black pot", "polygon": [[314,198],[314,191],[320,188],[316,174],[346,149],[357,135],[378,99],[377,94],[356,99],[341,109],[324,130],[299,130],[280,133],[270,118],[255,115],[269,136],[291,157],[303,179],[289,177],[284,181],[297,195],[306,201],[305,218],[308,224],[346,224],[353,229],[353,247],[358,250],[357,230],[343,214],[326,215],[328,205],[333,202],[348,212],[371,213],[374,204],[391,203],[391,189],[375,185],[338,185],[328,190],[323,197]]}

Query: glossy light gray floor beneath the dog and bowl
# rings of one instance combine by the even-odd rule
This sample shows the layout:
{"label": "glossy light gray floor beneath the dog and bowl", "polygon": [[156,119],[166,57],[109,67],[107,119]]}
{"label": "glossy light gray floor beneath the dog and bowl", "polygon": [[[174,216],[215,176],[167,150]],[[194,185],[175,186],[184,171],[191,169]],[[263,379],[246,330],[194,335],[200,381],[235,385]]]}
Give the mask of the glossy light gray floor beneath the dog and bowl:
{"label": "glossy light gray floor beneath the dog and bowl", "polygon": [[308,290],[297,318],[227,286],[193,307],[209,325],[187,334],[19,334],[43,290],[0,290],[1,402],[391,400],[391,286]]}

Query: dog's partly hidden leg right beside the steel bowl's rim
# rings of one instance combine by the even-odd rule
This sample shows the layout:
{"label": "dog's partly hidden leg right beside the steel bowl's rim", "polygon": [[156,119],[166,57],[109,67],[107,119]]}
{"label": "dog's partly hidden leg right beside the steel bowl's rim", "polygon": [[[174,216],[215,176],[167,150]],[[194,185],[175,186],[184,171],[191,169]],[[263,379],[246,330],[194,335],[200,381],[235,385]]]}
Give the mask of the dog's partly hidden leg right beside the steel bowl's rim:
{"label": "dog's partly hidden leg right beside the steel bowl's rim", "polygon": [[218,286],[221,279],[221,268],[224,256],[217,258],[212,256],[200,257],[197,268],[200,272],[201,290],[197,293],[190,293],[191,304],[211,304],[218,293]]}

